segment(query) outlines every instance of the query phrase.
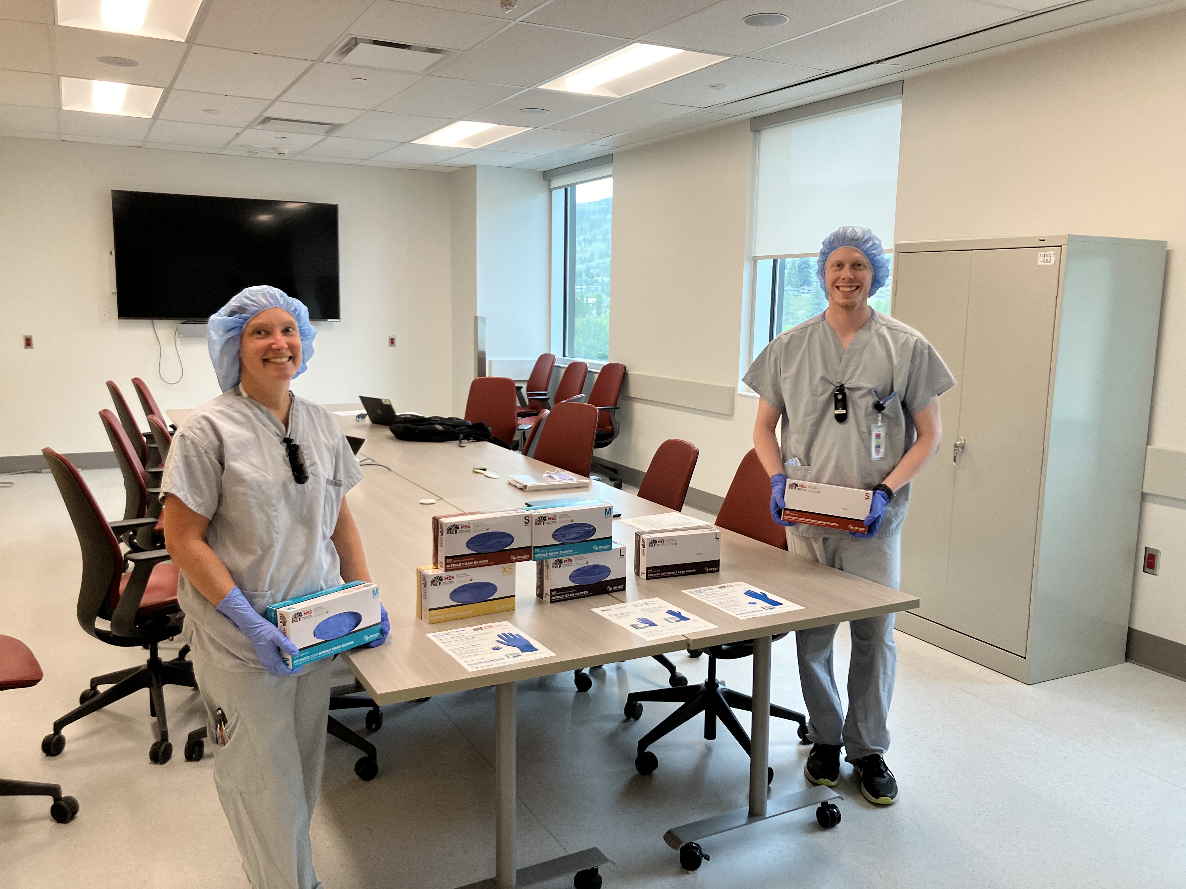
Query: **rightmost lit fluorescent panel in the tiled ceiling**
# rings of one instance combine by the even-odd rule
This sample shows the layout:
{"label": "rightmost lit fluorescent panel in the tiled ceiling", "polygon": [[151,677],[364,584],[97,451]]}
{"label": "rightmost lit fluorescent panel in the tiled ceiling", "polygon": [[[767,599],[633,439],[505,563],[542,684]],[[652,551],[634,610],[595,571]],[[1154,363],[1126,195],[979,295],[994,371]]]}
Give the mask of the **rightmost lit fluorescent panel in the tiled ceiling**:
{"label": "rightmost lit fluorescent panel in the tiled ceiling", "polygon": [[632,43],[540,87],[561,92],[621,98],[648,87],[723,62],[728,56]]}

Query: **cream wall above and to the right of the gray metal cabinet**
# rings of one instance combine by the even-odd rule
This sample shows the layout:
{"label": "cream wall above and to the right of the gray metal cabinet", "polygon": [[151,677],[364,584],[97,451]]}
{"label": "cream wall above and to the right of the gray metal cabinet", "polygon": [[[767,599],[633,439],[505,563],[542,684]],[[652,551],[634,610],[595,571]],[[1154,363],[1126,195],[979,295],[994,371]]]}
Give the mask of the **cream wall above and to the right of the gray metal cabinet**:
{"label": "cream wall above and to the right of the gray metal cabinet", "polygon": [[[1179,12],[907,79],[897,215],[899,241],[1168,241],[1149,443],[1177,449],[1186,449],[1184,46]],[[1136,575],[1131,625],[1186,642],[1186,504],[1148,500],[1139,546],[1161,549],[1163,567]]]}

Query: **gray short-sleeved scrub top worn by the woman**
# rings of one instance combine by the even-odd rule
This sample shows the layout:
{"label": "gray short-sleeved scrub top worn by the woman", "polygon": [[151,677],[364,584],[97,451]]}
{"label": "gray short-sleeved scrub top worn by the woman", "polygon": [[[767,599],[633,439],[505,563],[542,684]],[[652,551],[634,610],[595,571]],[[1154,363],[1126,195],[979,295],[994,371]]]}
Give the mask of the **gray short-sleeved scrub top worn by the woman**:
{"label": "gray short-sleeved scrub top worn by the woman", "polygon": [[[300,444],[298,485],[282,440]],[[161,493],[210,519],[206,543],[260,614],[267,606],[342,582],[330,539],[342,498],[363,478],[333,416],[292,396],[288,430],[241,388],[190,414],[177,430]],[[235,672],[263,670],[247,637],[183,571],[177,599],[196,658]]]}

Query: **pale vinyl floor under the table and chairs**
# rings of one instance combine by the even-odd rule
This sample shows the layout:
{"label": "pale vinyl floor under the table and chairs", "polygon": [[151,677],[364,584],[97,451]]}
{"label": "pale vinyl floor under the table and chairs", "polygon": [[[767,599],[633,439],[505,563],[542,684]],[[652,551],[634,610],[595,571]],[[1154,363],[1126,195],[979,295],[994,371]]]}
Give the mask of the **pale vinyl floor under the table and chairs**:
{"label": "pale vinyl floor under the table and chairs", "polygon": [[[85,477],[119,514],[117,472]],[[195,692],[166,691],[176,752],[165,766],[148,762],[147,692],[66,728],[60,756],[42,755],[91,676],[145,653],[78,627],[78,544],[52,478],[5,478],[15,485],[0,488],[0,633],[33,650],[45,679],[0,692],[0,775],[58,782],[81,812],[59,825],[46,798],[0,798],[0,883],[247,887],[209,752],[181,757],[178,740],[202,722]],[[847,645],[842,628],[842,687]],[[745,804],[747,760],[723,728],[708,742],[701,722],[686,724],[652,748],[659,767],[644,778],[635,744],[674,705],[648,704],[639,722],[621,706],[631,690],[664,686],[662,667],[608,665],[584,695],[567,673],[519,683],[519,864],[598,845],[614,861],[606,887],[1186,887],[1186,683],[1123,664],[1026,686],[901,633],[898,650],[887,759],[900,801],[868,805],[846,766],[839,827],[821,830],[809,808],[714,837],[693,874],[662,837]],[[704,659],[672,657],[703,678]],[[748,660],[721,664],[742,691],[748,671]],[[802,708],[790,638],[774,645],[773,699]],[[363,712],[340,717],[368,734]],[[374,781],[355,776],[353,748],[329,741],[312,829],[326,889],[451,889],[492,875],[493,691],[384,712]],[[793,725],[776,721],[772,737],[772,792],[804,787],[808,748]]]}

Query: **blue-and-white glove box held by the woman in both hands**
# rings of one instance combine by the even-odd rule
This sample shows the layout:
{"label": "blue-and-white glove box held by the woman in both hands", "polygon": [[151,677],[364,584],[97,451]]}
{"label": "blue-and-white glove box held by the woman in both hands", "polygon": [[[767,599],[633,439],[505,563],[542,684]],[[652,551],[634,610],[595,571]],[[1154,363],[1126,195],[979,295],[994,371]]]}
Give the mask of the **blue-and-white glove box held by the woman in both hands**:
{"label": "blue-and-white glove box held by the woman in both hands", "polygon": [[283,655],[289,670],[372,642],[383,633],[378,586],[364,581],[269,605],[267,618],[300,648]]}

